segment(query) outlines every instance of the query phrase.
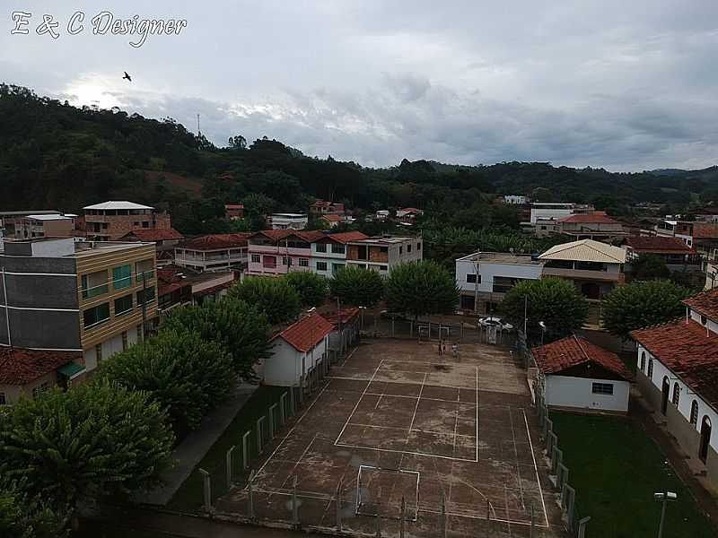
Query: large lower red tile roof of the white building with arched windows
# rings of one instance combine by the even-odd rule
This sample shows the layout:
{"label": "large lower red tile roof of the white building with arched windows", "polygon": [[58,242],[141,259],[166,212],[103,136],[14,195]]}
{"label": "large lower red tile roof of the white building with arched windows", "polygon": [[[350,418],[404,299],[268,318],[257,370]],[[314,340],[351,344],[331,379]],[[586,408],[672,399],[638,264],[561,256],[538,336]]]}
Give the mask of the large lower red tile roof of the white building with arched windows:
{"label": "large lower red tile roof of the white building with arched windows", "polygon": [[632,331],[631,336],[718,410],[717,334],[681,319]]}

